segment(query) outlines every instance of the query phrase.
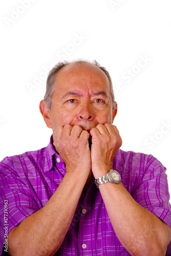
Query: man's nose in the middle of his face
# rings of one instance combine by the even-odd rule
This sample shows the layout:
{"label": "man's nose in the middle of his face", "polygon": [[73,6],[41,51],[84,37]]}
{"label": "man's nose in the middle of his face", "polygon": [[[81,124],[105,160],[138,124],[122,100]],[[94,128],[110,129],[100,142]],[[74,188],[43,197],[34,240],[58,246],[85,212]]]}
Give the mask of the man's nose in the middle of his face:
{"label": "man's nose in the middle of his face", "polygon": [[94,113],[91,106],[88,103],[81,104],[78,112],[78,120],[89,120],[92,121],[94,118]]}

